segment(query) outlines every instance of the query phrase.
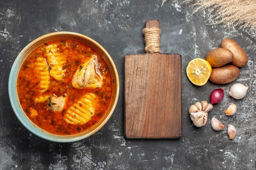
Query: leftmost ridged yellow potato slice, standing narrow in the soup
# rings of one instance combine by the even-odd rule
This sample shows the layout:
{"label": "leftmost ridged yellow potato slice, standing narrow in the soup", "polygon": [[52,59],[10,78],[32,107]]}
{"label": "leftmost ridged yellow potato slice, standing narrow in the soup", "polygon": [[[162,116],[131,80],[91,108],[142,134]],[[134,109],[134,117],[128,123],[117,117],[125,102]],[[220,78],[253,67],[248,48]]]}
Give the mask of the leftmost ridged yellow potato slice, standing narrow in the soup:
{"label": "leftmost ridged yellow potato slice, standing narrow in the soup", "polygon": [[41,77],[41,81],[39,82],[38,86],[39,86],[39,91],[41,93],[44,93],[47,89],[48,89],[48,86],[49,86],[49,80],[50,80],[50,77],[49,77],[49,72],[48,72],[48,66],[47,66],[47,63],[45,61],[45,58],[43,57],[37,57],[36,58],[36,73],[39,73],[40,74],[40,77]]}

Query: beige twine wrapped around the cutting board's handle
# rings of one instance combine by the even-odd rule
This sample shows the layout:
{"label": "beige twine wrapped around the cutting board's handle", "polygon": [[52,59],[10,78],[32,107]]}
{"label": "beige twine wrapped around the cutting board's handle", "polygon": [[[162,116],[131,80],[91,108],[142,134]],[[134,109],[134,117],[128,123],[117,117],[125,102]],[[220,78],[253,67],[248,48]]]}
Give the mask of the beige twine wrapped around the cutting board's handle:
{"label": "beige twine wrapped around the cutting board's handle", "polygon": [[145,37],[145,51],[146,53],[160,53],[160,35],[161,29],[152,27],[150,29],[144,28],[142,31]]}

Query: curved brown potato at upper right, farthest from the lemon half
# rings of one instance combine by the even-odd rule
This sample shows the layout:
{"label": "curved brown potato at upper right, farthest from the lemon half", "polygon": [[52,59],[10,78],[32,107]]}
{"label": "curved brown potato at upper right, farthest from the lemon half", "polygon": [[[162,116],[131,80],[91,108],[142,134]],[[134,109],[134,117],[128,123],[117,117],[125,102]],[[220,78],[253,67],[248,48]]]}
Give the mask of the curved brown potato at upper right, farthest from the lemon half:
{"label": "curved brown potato at upper right, farthest from the lemon half", "polygon": [[220,46],[225,49],[229,49],[234,57],[233,61],[231,62],[233,65],[237,67],[244,67],[248,62],[248,57],[245,51],[238,45],[234,40],[229,38],[225,38],[222,40]]}

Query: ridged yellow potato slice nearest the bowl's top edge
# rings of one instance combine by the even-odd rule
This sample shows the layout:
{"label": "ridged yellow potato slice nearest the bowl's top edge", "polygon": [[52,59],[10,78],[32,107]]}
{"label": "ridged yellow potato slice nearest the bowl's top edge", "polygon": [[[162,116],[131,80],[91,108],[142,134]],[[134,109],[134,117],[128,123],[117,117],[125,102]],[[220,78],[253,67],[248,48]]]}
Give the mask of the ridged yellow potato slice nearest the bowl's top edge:
{"label": "ridged yellow potato slice nearest the bowl's top edge", "polygon": [[58,53],[58,45],[50,44],[46,46],[46,56],[49,65],[49,73],[56,80],[62,80],[65,75],[65,70],[62,66],[65,63],[65,58],[61,53]]}

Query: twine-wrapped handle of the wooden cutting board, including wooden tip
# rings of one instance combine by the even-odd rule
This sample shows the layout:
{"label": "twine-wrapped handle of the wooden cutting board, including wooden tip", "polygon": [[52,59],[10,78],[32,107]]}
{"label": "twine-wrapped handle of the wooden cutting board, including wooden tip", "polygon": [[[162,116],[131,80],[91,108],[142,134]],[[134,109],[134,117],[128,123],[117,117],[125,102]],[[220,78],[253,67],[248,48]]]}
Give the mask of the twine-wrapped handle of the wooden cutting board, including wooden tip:
{"label": "twine-wrapped handle of the wooden cutting board, including wooden tip", "polygon": [[145,38],[146,53],[160,53],[161,29],[159,29],[159,20],[147,20],[142,33]]}

